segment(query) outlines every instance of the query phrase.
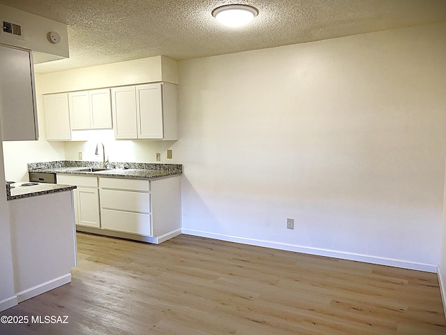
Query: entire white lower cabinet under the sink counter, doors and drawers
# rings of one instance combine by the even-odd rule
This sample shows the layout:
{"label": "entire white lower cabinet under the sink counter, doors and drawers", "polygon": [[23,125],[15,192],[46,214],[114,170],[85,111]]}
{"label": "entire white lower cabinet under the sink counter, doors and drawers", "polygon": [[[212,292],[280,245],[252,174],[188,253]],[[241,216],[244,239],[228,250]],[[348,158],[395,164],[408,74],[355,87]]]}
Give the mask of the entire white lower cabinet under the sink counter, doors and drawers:
{"label": "entire white lower cabinet under the sink counter, doors and drawers", "polygon": [[76,185],[77,230],[161,243],[181,233],[180,176],[124,179],[57,174]]}

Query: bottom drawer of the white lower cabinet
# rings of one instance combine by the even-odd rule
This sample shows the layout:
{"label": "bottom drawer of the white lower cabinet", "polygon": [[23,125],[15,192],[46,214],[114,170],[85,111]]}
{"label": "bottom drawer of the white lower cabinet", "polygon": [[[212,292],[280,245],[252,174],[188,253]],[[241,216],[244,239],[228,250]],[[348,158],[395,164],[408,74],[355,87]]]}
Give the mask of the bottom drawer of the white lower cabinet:
{"label": "bottom drawer of the white lower cabinet", "polygon": [[151,214],[101,209],[101,228],[153,236]]}

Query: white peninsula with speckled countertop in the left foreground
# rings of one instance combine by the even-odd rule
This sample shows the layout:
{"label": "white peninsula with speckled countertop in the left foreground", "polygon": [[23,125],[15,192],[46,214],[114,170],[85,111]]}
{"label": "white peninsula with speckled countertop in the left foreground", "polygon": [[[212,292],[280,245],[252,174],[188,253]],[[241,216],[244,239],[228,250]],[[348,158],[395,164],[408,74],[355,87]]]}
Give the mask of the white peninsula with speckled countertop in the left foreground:
{"label": "white peninsula with speckled countertop in the left foreground", "polygon": [[70,283],[76,265],[72,190],[19,182],[7,193],[17,302]]}

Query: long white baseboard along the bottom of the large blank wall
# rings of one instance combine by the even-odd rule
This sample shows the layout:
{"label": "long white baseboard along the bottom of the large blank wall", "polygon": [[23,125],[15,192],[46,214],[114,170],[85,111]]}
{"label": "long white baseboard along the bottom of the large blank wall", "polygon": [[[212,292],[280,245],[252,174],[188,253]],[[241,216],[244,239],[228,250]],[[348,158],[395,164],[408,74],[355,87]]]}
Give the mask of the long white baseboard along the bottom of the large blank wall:
{"label": "long white baseboard along the bottom of the large blank wall", "polygon": [[395,260],[393,258],[383,258],[371,255],[362,255],[359,253],[345,253],[343,251],[334,251],[323,248],[312,248],[308,246],[298,246],[295,244],[279,243],[274,241],[264,241],[261,239],[249,239],[246,237],[238,237],[226,234],[217,234],[214,232],[203,232],[201,230],[182,229],[183,234],[189,234],[199,237],[209,237],[210,239],[221,239],[222,241],[230,241],[241,244],[250,244],[252,246],[263,246],[286,251],[294,251],[296,253],[308,253],[310,255],[320,255],[325,257],[340,258],[342,260],[355,260],[357,262],[366,262],[377,265],[387,265],[389,267],[401,267],[403,269],[412,269],[426,272],[436,273],[437,265],[409,262],[406,260]]}

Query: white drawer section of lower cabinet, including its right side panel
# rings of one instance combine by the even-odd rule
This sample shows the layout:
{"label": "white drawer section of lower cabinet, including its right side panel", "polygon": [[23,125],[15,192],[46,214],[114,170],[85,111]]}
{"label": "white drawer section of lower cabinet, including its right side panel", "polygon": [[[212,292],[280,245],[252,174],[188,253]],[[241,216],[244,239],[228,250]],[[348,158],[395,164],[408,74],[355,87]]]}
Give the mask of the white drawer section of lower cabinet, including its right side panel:
{"label": "white drawer section of lower cabinet, including its right side panel", "polygon": [[101,227],[114,235],[161,243],[181,232],[180,177],[99,179]]}

